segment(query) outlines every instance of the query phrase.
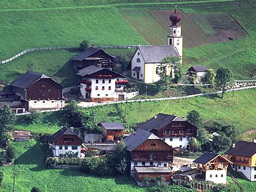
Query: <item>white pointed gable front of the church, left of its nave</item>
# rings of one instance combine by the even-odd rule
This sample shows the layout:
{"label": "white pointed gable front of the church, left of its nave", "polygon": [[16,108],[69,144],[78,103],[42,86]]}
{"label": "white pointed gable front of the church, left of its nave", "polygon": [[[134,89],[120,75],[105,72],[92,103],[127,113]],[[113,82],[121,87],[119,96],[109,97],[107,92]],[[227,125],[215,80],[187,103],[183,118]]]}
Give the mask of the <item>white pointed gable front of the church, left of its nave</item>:
{"label": "white pointed gable front of the church, left of its nave", "polygon": [[[138,55],[139,53],[139,55]],[[137,62],[140,59],[140,62]],[[137,72],[133,71],[134,67],[140,67],[139,80],[144,80],[144,59],[139,49],[137,49],[133,58],[131,59],[131,77],[137,79]]]}

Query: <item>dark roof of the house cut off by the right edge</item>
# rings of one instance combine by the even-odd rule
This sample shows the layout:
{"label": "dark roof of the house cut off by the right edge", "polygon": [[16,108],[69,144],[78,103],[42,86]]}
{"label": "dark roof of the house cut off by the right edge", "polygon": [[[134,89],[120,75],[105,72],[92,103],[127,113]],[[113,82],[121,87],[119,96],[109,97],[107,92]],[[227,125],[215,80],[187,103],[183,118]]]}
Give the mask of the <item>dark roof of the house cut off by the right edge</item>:
{"label": "dark roof of the house cut off by the right edge", "polygon": [[256,154],[256,143],[247,141],[237,141],[234,148],[226,151],[229,155],[239,155],[243,157],[253,157]]}

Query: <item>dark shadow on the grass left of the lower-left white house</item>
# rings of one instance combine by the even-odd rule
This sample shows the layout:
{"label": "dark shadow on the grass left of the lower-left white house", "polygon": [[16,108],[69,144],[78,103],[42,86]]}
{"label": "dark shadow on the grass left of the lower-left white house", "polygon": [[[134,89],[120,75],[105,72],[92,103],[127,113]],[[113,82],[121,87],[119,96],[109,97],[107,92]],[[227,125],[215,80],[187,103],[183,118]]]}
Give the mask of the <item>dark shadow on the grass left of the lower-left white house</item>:
{"label": "dark shadow on the grass left of the lower-left white house", "polygon": [[31,168],[33,171],[41,171],[45,169],[45,150],[46,144],[42,144],[37,140],[37,143],[30,147],[29,150],[15,159],[15,164],[19,165],[37,165],[35,168]]}

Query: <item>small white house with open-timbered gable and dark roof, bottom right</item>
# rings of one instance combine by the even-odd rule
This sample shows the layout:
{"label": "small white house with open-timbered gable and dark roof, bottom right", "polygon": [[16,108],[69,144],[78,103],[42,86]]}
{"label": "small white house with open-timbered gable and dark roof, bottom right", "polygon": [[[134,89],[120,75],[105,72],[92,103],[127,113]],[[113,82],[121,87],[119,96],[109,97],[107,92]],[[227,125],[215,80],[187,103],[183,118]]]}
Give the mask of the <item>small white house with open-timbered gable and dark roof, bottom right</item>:
{"label": "small white house with open-timbered gable and dark roof, bottom right", "polygon": [[199,173],[191,175],[194,179],[201,179],[214,183],[227,182],[227,166],[232,164],[222,155],[206,152],[193,161],[197,163]]}

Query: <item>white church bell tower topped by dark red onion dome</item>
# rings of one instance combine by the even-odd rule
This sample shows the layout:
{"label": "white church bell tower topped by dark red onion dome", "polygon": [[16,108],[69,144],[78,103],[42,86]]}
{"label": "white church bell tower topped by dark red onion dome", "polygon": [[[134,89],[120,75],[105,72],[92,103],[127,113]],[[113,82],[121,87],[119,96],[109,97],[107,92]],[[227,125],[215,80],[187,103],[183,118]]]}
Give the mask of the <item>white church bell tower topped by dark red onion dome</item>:
{"label": "white church bell tower topped by dark red onion dome", "polygon": [[177,48],[180,55],[180,63],[182,63],[182,49],[183,49],[183,37],[182,37],[182,27],[179,22],[182,16],[177,13],[177,5],[175,5],[175,12],[170,15],[170,21],[172,25],[170,26],[168,45],[172,45]]}

